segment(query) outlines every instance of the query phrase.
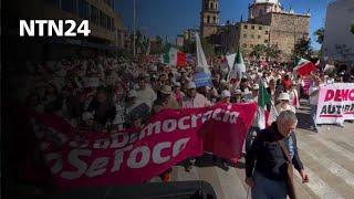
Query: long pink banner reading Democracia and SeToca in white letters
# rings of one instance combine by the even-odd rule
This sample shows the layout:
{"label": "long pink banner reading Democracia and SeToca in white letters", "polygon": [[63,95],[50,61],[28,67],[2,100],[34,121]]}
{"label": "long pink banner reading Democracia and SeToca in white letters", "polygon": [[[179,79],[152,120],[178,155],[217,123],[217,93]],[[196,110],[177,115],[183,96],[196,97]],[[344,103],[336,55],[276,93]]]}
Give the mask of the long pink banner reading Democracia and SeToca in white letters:
{"label": "long pink banner reading Democracia and SeToca in white letters", "polygon": [[33,127],[60,188],[134,185],[205,150],[236,163],[256,108],[219,104],[165,109],[142,129],[114,134],[80,133],[53,115],[37,116]]}

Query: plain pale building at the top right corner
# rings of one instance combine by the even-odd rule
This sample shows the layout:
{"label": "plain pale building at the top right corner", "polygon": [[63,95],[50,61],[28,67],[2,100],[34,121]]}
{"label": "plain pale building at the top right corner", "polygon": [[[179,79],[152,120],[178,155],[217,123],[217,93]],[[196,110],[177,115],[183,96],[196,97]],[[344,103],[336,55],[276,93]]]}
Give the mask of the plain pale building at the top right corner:
{"label": "plain pale building at the top right corner", "polygon": [[354,63],[354,34],[351,32],[353,23],[353,0],[336,0],[329,4],[322,46],[324,60]]}

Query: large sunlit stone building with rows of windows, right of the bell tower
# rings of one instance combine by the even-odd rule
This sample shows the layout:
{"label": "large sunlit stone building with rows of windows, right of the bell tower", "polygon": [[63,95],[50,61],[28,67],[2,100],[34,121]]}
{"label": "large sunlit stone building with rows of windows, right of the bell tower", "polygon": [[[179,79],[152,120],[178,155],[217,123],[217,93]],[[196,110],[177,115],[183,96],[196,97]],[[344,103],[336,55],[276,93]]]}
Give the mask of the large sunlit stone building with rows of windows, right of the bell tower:
{"label": "large sunlit stone building with rows of windows, right of the bell tower", "polygon": [[295,43],[309,38],[310,14],[284,11],[279,0],[253,0],[249,6],[248,21],[218,25],[217,38],[221,53],[241,48],[246,60],[260,44],[278,45],[282,54],[279,61],[290,61]]}

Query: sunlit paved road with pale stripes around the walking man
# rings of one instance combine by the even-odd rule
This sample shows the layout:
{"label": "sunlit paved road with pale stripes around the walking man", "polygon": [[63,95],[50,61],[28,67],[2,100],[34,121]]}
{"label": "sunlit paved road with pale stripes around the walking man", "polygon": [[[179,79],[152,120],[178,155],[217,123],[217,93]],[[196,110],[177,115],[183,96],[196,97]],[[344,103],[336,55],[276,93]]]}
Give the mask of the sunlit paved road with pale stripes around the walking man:
{"label": "sunlit paved road with pale stripes around the walking man", "polygon": [[[309,130],[309,108],[302,106],[298,113],[296,130],[300,157],[310,176],[309,184],[301,184],[296,172],[296,189],[301,199],[353,199],[354,198],[354,124],[345,127],[323,125],[319,133]],[[210,160],[210,158],[209,158]],[[206,157],[208,161],[208,157]],[[244,159],[239,168],[223,170],[217,166],[195,167],[185,172],[180,166],[175,167],[173,180],[206,180],[212,185],[218,198],[247,198],[248,188],[243,182]],[[159,179],[154,179],[158,181]]]}

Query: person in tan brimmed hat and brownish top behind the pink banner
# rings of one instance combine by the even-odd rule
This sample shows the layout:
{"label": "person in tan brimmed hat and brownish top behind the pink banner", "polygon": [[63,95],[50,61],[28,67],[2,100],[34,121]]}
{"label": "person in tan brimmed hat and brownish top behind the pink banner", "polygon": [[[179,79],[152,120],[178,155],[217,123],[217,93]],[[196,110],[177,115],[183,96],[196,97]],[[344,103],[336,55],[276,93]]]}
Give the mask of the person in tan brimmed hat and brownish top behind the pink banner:
{"label": "person in tan brimmed hat and brownish top behind the pink banner", "polygon": [[171,95],[173,90],[168,85],[163,85],[158,91],[158,97],[154,102],[153,114],[156,114],[165,108],[179,109],[180,106],[176,98]]}

